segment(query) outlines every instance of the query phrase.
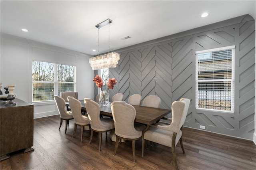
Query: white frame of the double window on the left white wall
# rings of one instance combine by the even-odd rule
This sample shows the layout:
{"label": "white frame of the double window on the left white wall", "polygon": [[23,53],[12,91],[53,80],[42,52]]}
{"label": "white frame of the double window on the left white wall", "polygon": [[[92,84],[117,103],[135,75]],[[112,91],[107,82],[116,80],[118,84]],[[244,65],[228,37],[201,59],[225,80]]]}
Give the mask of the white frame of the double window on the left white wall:
{"label": "white frame of the double window on the left white wall", "polygon": [[[61,63],[54,63],[54,62],[50,62],[50,61],[41,61],[41,60],[38,60],[38,59],[32,59],[32,62],[33,61],[38,61],[38,62],[44,62],[44,63],[51,63],[54,65],[54,80],[53,81],[33,81],[32,79],[32,75],[33,75],[33,64],[31,64],[31,79],[32,79],[32,88],[31,88],[31,103],[32,104],[36,104],[36,105],[41,105],[41,104],[44,104],[44,103],[52,103],[54,102],[54,99],[53,100],[45,100],[45,101],[34,101],[34,97],[33,97],[33,83],[53,83],[54,84],[54,95],[58,95],[58,85],[59,83],[71,83],[71,84],[74,84],[74,91],[76,91],[76,66],[75,65],[68,65],[68,64],[61,64]],[[74,67],[74,82],[64,82],[64,81],[58,81],[58,65],[68,65],[68,66],[72,66]]]}

